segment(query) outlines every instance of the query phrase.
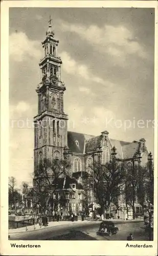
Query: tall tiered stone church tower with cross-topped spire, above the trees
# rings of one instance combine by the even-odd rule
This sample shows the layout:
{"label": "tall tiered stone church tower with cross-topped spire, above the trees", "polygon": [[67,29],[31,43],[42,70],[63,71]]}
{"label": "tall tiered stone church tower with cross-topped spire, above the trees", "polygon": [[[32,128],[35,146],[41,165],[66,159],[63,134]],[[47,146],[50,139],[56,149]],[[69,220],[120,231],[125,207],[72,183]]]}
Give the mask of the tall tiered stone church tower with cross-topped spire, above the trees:
{"label": "tall tiered stone church tower with cross-topped spire, above the trees", "polygon": [[34,117],[34,171],[41,159],[61,158],[67,146],[67,115],[63,110],[64,82],[58,43],[49,20],[46,39],[42,42],[43,58],[39,62],[41,81],[37,86],[38,114]]}

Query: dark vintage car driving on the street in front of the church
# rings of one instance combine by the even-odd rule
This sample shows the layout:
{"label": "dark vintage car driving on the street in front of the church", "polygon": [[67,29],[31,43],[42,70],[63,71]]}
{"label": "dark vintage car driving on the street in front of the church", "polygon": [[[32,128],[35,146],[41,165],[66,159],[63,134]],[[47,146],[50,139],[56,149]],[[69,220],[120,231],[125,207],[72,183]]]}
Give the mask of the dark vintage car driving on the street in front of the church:
{"label": "dark vintage car driving on the street in front of the church", "polygon": [[115,226],[112,221],[103,221],[100,223],[99,230],[97,232],[98,236],[111,236],[111,234],[116,234],[119,231],[119,228]]}

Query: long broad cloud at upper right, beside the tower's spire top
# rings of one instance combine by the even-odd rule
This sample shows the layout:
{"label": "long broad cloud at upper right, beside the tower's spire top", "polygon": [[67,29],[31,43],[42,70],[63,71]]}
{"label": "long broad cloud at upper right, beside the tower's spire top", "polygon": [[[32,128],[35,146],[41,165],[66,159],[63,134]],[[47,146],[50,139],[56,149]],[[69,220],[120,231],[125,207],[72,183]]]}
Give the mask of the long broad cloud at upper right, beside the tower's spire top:
{"label": "long broad cloud at upper right, beside the tower's spire top", "polygon": [[120,61],[123,61],[126,55],[132,54],[137,54],[141,58],[147,57],[147,53],[134,37],[134,33],[124,26],[104,25],[103,27],[98,27],[91,25],[85,27],[79,24],[72,25],[62,22],[62,28],[64,31],[78,34],[102,53],[108,53],[118,58],[121,57]]}

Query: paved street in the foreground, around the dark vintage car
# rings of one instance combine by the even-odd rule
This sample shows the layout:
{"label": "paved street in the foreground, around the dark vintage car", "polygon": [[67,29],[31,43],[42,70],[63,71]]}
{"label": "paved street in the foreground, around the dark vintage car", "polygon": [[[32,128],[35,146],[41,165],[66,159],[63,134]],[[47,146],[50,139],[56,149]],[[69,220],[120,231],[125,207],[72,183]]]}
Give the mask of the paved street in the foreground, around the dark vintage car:
{"label": "paved street in the foreground, around the dark vintage car", "polygon": [[74,223],[69,225],[61,225],[47,227],[41,230],[33,230],[29,232],[19,232],[10,234],[10,240],[126,240],[129,233],[133,234],[134,240],[146,241],[147,234],[143,228],[143,222],[138,221],[116,221],[115,225],[119,228],[119,232],[112,236],[97,236],[100,222],[91,223]]}

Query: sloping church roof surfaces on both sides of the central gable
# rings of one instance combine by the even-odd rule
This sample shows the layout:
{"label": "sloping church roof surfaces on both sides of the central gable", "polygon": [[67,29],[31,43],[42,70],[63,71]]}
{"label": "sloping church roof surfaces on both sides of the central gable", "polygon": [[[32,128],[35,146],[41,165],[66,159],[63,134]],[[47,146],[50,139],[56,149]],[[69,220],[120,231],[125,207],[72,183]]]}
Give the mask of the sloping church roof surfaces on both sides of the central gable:
{"label": "sloping church roof surfaces on both sides of the central gable", "polygon": [[[70,151],[73,153],[84,154],[93,152],[100,145],[100,138],[100,136],[67,132],[67,143]],[[78,141],[78,145],[76,141]],[[109,142],[112,147],[115,146],[117,148],[117,157],[120,159],[132,158],[139,147],[138,141],[127,142],[109,138]]]}

